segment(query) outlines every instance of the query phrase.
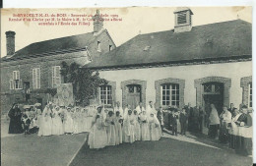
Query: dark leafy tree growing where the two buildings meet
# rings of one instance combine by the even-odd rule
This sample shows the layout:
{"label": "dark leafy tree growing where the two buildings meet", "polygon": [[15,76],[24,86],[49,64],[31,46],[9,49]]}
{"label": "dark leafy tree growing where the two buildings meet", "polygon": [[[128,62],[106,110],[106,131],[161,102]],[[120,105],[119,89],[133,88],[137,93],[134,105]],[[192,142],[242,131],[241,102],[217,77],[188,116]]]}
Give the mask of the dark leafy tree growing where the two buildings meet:
{"label": "dark leafy tree growing where the two buildings meet", "polygon": [[85,105],[90,104],[90,99],[96,98],[97,87],[106,84],[106,80],[99,78],[99,73],[90,69],[81,68],[77,63],[68,65],[61,63],[61,76],[64,83],[73,84],[75,100]]}

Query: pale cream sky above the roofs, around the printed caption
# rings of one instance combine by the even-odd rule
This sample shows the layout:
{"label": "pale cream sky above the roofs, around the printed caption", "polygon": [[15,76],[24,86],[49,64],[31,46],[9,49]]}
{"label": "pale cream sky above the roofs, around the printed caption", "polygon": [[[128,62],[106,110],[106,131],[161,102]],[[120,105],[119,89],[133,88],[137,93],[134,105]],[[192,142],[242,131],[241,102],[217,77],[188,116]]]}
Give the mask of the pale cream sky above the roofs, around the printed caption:
{"label": "pale cream sky above the roofs, around the printed caption", "polygon": [[[130,7],[130,8],[98,8],[100,14],[118,15],[119,22],[104,22],[117,46],[139,33],[169,30],[174,28],[174,14],[176,7]],[[241,19],[252,23],[251,7],[191,7],[193,12],[193,27],[218,22]],[[96,8],[80,9],[2,9],[1,10],[1,57],[6,55],[5,31],[16,32],[16,51],[38,41],[76,35],[93,31],[90,26],[38,26],[36,22],[10,22],[14,14],[66,14],[93,15]]]}

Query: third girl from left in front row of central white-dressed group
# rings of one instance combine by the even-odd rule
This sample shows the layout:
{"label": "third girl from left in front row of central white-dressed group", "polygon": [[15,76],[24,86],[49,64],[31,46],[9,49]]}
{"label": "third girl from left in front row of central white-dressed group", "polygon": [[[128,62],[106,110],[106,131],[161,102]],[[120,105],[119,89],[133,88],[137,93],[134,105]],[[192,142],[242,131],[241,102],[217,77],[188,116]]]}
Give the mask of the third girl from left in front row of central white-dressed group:
{"label": "third girl from left in front row of central white-dressed group", "polygon": [[122,143],[122,117],[120,116],[120,112],[116,111],[115,113],[115,120],[114,120],[114,125],[115,125],[115,144],[120,144]]}

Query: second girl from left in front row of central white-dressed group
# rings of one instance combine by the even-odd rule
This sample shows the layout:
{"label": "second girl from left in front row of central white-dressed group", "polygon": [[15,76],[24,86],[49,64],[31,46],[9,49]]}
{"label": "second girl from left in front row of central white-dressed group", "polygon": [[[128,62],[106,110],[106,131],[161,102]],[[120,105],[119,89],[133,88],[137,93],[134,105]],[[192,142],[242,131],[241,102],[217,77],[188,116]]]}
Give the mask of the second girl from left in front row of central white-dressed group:
{"label": "second girl from left in front row of central white-dressed group", "polygon": [[115,126],[114,126],[114,116],[113,111],[108,112],[108,116],[105,119],[107,125],[107,143],[108,145],[115,145]]}

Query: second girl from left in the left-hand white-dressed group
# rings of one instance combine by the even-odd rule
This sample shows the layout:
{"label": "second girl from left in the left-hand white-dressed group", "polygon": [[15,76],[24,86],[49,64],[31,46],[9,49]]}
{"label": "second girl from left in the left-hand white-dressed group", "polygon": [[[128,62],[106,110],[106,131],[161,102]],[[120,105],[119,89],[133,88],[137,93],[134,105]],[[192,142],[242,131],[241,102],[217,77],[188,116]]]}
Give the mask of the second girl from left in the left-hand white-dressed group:
{"label": "second girl from left in the left-hand white-dressed group", "polygon": [[52,113],[52,135],[63,135],[63,125],[60,117],[60,108],[57,106]]}

